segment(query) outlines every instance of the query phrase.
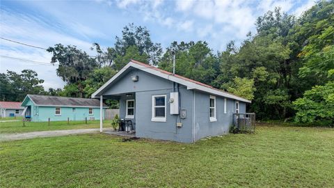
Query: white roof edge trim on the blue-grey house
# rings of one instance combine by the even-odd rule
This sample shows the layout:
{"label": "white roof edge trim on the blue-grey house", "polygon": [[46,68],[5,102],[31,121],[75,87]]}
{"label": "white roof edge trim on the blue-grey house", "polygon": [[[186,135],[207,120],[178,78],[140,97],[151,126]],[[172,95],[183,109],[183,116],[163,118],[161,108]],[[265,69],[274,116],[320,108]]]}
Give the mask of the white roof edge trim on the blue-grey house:
{"label": "white roof edge trim on the blue-grey house", "polygon": [[181,78],[178,78],[178,77],[174,77],[173,75],[166,75],[165,73],[160,72],[159,70],[154,70],[152,68],[146,68],[143,65],[139,65],[137,63],[132,63],[131,61],[127,65],[125,65],[125,67],[122,68],[115,76],[113,76],[111,79],[109,79],[109,81],[107,81],[106,84],[103,84],[103,86],[101,86],[97,91],[95,91],[95,93],[93,93],[93,95],[92,95],[92,98],[96,97],[96,96],[99,96],[98,94],[104,88],[106,88],[106,86],[108,86],[109,84],[111,84],[111,82],[113,80],[115,80],[118,76],[120,76],[122,74],[122,72],[124,72],[125,70],[127,70],[127,68],[129,68],[130,66],[132,66],[134,68],[141,69],[141,70],[143,70],[145,72],[149,72],[152,75],[156,75],[158,77],[162,77],[162,78],[168,79],[170,81],[175,81],[175,82],[177,82],[179,84],[182,84],[182,85],[186,86],[187,89],[196,89],[196,90],[199,90],[199,91],[205,91],[207,93],[211,93],[211,94],[218,95],[218,96],[221,96],[221,97],[228,97],[228,98],[231,98],[231,99],[234,99],[234,100],[239,100],[239,101],[242,101],[242,102],[251,103],[250,100],[246,100],[246,99],[244,99],[242,97],[237,97],[237,96],[232,95],[230,93],[225,93],[223,91],[218,91],[218,90],[213,89],[213,88],[208,88],[208,87],[205,87],[205,86],[201,86],[201,85],[195,84],[195,83],[193,83],[191,81],[186,81],[184,79],[181,79]]}

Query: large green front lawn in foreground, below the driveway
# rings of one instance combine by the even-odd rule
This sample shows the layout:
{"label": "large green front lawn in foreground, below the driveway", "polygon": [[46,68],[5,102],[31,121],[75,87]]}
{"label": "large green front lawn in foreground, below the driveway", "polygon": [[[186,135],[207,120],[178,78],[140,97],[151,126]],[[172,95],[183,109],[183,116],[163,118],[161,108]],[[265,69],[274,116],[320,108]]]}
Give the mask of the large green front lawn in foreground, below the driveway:
{"label": "large green front lawn in foreground, below the driveway", "polygon": [[194,144],[107,134],[1,144],[0,187],[333,187],[334,129],[257,127]]}

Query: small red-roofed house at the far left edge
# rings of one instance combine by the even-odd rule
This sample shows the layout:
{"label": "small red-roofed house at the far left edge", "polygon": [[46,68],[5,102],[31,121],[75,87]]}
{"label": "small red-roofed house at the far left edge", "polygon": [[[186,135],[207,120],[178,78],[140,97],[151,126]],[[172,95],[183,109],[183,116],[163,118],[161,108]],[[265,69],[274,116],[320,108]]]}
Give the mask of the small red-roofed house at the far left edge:
{"label": "small red-roofed house at the far left edge", "polygon": [[19,117],[22,116],[23,107],[21,102],[6,102],[0,101],[0,116],[1,117]]}

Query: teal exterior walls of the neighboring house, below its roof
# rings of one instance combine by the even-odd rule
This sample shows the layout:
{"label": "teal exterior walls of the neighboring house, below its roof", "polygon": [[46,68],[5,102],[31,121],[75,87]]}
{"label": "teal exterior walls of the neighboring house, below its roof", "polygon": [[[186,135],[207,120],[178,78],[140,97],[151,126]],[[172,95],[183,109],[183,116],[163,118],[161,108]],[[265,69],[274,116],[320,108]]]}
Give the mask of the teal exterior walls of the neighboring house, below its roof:
{"label": "teal exterior walls of the neighboring house, below its roof", "polygon": [[[93,114],[89,114],[89,107],[60,107],[61,114],[56,114],[56,107],[37,106],[28,98],[25,106],[29,107],[26,114],[31,115],[31,121],[61,121],[67,120],[100,120],[100,108],[92,107]],[[104,111],[105,109],[103,109]],[[102,113],[104,118],[104,112]]]}

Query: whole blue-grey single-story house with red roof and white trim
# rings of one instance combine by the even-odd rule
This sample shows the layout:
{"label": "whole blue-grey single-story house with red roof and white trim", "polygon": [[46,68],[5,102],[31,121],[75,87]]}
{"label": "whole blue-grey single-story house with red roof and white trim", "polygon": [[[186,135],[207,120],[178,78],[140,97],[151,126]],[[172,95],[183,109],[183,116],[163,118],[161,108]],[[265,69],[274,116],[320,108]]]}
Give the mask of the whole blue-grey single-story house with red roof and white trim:
{"label": "whole blue-grey single-story house with red roof and white trim", "polygon": [[[246,113],[246,100],[207,84],[130,61],[93,93],[116,99],[120,118],[132,120],[136,136],[192,143],[227,134],[233,113]],[[100,121],[102,132],[102,121]]]}

